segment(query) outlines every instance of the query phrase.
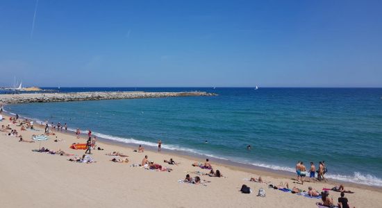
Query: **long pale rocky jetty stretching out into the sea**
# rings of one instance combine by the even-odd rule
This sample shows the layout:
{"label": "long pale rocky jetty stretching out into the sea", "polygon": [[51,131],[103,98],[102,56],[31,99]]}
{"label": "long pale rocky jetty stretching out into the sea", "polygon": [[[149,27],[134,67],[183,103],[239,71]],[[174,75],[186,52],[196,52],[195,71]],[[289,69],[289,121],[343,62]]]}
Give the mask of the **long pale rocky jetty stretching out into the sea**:
{"label": "long pale rocky jetty stretching out into the sea", "polygon": [[1,94],[0,103],[49,103],[69,101],[99,101],[176,96],[216,96],[208,92],[76,92],[51,94]]}

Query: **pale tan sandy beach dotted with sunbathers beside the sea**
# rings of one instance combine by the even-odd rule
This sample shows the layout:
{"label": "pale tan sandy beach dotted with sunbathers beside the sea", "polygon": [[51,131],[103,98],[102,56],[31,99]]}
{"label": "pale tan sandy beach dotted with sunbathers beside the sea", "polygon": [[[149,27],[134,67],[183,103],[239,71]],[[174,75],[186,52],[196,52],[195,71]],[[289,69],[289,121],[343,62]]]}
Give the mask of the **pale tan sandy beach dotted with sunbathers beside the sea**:
{"label": "pale tan sandy beach dotted with sunbathers beside the sea", "polygon": [[[1,121],[1,125],[10,124],[8,116]],[[21,131],[17,124],[10,124],[24,139],[30,140],[32,135],[44,133],[42,128],[35,125],[36,130]],[[85,150],[73,150],[69,146],[73,143],[85,143],[85,138],[76,139],[73,132],[55,132],[56,136],[49,136],[49,140],[41,141],[41,146],[50,150],[63,150],[65,153],[81,156]],[[210,161],[215,170],[221,171],[224,177],[209,177],[199,175],[202,180],[210,181],[205,185],[178,182],[184,180],[189,172],[201,171],[208,173],[191,164],[192,157],[183,157],[153,150],[135,153],[133,148],[97,142],[103,150],[92,150],[91,157],[95,163],[83,164],[69,162],[72,156],[35,153],[39,142],[19,142],[18,137],[8,136],[7,132],[0,132],[0,200],[1,207],[317,207],[320,199],[307,198],[288,192],[269,189],[268,184],[249,182],[244,179],[258,177],[269,184],[288,182],[290,189],[298,187],[308,190],[311,186],[318,191],[322,188],[332,188],[335,182],[305,182],[304,185],[295,183],[288,176],[267,173],[245,168],[235,168],[216,164]],[[60,141],[55,142],[53,140]],[[164,141],[165,142],[165,141]],[[138,147],[137,147],[138,148]],[[119,151],[128,155],[130,162],[111,162],[105,153]],[[148,155],[149,160],[168,166],[172,172],[145,170],[141,167],[131,167],[140,163]],[[179,165],[169,165],[164,159],[173,158]],[[117,157],[118,158],[118,157]],[[251,172],[251,173],[249,173]],[[190,173],[192,177],[197,176]],[[242,184],[251,187],[253,193],[240,193]],[[345,184],[346,189],[355,193],[347,193],[351,207],[381,207],[381,189]],[[266,191],[266,197],[256,196],[258,189]],[[340,193],[330,191],[334,202]]]}

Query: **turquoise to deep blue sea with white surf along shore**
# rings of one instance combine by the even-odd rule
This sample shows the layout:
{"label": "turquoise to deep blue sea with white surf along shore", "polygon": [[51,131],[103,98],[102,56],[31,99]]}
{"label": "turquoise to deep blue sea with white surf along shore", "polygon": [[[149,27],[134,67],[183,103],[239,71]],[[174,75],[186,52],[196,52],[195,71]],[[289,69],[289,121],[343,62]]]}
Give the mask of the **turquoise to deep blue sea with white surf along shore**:
{"label": "turquoise to deep blue sea with white surf along shore", "polygon": [[[60,89],[100,90],[135,89]],[[293,172],[297,160],[324,160],[333,179],[382,187],[382,89],[196,90],[219,96],[31,103],[6,110],[91,129],[106,139],[145,146],[162,139],[163,148],[276,170]]]}

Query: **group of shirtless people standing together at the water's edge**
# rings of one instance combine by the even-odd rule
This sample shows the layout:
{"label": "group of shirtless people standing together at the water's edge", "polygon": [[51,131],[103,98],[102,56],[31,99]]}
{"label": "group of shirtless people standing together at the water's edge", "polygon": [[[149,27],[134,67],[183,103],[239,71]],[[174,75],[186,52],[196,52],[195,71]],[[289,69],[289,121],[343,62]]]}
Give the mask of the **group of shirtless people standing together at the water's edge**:
{"label": "group of shirtless people standing together at the water's edge", "polygon": [[316,170],[315,164],[313,162],[310,162],[310,169],[307,171],[306,166],[304,165],[304,162],[297,162],[296,164],[296,173],[297,173],[297,181],[301,181],[301,184],[304,184],[306,175],[309,174],[309,182],[311,179],[313,179],[313,182],[316,181],[315,173],[317,173],[317,180],[324,180],[327,182],[326,178],[324,177],[325,173],[327,172],[325,162],[320,161],[318,170]]}

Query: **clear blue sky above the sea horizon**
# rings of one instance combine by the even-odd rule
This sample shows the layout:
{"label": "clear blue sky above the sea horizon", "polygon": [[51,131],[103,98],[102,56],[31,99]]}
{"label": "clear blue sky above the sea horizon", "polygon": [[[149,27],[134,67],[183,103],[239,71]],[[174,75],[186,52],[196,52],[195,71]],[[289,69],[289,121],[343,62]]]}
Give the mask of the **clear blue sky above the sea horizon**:
{"label": "clear blue sky above the sea horizon", "polygon": [[0,1],[0,85],[382,87],[382,1]]}

